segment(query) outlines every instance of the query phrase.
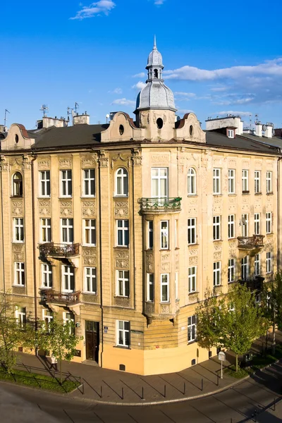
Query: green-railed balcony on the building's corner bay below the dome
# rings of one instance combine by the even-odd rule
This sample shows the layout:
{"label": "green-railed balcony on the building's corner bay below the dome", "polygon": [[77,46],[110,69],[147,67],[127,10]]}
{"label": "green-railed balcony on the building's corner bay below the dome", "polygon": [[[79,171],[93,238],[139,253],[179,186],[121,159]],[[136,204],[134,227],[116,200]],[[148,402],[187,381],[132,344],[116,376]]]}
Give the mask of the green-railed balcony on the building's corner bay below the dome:
{"label": "green-railed balcony on the building's corner bay below the dome", "polygon": [[140,198],[138,202],[141,205],[142,213],[171,213],[180,212],[181,197],[172,198]]}

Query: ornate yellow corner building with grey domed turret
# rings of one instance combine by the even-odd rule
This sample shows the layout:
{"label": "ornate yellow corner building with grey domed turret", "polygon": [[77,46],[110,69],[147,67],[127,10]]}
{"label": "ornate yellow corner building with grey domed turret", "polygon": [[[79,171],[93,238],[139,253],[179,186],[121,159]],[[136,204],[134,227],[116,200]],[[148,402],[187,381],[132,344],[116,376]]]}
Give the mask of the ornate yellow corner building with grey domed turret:
{"label": "ornate yellow corner building with grey domed turret", "polygon": [[257,288],[278,261],[280,151],[236,135],[237,121],[176,122],[163,68],[154,45],[135,122],[43,118],[1,139],[0,286],[18,319],[73,319],[74,360],[138,374],[207,360],[195,342],[207,289]]}

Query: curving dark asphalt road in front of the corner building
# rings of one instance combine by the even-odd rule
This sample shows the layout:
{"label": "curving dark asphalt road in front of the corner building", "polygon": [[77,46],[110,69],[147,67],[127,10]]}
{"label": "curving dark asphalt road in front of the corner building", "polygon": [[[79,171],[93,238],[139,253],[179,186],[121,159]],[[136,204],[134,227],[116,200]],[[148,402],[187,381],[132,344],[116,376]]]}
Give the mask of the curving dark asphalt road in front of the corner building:
{"label": "curving dark asphalt road in front of the corner building", "polygon": [[[12,384],[0,384],[2,423],[238,423],[257,410],[257,422],[281,423],[282,402],[276,412],[264,407],[281,396],[282,364],[214,396],[183,403],[143,407],[92,404]],[[273,409],[274,407],[272,407]],[[232,420],[231,420],[232,419]],[[255,421],[255,417],[253,419]]]}

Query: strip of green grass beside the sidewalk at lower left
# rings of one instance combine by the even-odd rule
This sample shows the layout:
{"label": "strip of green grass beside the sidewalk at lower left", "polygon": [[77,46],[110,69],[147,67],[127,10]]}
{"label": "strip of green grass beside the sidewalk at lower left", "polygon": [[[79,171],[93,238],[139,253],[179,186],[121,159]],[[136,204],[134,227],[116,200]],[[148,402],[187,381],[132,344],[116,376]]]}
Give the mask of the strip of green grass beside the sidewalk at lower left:
{"label": "strip of green grass beside the sidewalk at lower left", "polygon": [[64,380],[61,384],[58,378],[44,374],[29,373],[24,370],[13,370],[13,373],[8,374],[4,369],[0,369],[0,379],[32,388],[46,389],[47,391],[60,393],[71,392],[80,385],[78,381],[70,380]]}

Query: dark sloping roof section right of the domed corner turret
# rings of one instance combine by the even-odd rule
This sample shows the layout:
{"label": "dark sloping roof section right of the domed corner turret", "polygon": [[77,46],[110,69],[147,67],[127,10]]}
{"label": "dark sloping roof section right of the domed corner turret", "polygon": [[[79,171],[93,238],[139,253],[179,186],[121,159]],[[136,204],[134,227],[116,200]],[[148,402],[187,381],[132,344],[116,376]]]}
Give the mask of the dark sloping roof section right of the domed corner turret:
{"label": "dark sloping roof section right of the domed corner turret", "polygon": [[205,130],[207,145],[211,147],[227,147],[230,149],[240,149],[252,152],[279,154],[276,147],[265,145],[259,140],[252,140],[244,135],[236,135],[235,138],[228,138],[222,133]]}

